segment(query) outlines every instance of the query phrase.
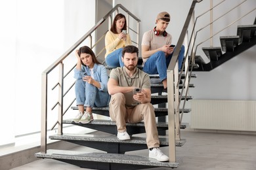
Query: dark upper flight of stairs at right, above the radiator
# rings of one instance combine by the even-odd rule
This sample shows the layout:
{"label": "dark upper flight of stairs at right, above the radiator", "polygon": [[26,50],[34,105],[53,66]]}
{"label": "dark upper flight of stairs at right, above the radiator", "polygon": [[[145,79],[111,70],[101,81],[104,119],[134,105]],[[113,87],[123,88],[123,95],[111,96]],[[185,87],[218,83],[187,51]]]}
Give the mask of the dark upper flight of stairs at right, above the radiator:
{"label": "dark upper flight of stairs at right, above the radiator", "polygon": [[201,56],[195,56],[193,71],[211,71],[229,59],[238,56],[256,44],[256,17],[253,25],[238,25],[236,35],[221,36],[221,46],[203,47],[202,50],[210,60],[205,63]]}

